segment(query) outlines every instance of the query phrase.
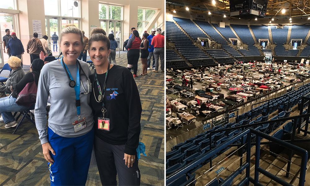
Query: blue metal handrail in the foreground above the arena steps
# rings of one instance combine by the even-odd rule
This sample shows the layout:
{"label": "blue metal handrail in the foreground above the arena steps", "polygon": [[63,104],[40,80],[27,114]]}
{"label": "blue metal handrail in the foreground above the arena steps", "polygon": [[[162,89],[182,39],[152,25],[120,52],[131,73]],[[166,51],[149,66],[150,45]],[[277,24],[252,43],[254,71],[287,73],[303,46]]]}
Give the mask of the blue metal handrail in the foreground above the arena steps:
{"label": "blue metal handrail in the foreground above the arena steps", "polygon": [[[306,115],[306,114],[305,114]],[[256,148],[255,148],[255,176],[254,179],[250,177],[250,150],[251,150],[251,134],[255,134],[256,135]],[[251,128],[247,128],[246,130],[240,132],[239,134],[237,134],[236,136],[230,138],[229,140],[225,141],[223,144],[220,144],[217,148],[214,148],[212,150],[210,150],[209,152],[202,154],[201,156],[197,157],[194,161],[190,162],[188,165],[176,170],[174,173],[172,173],[171,175],[168,175],[166,177],[166,184],[170,184],[172,181],[174,181],[175,179],[177,179],[179,176],[188,173],[188,171],[194,169],[197,165],[203,163],[204,161],[210,159],[214,154],[220,152],[221,150],[225,149],[228,145],[233,144],[234,142],[236,142],[237,140],[243,138],[243,137],[247,137],[247,142],[246,143],[246,149],[247,149],[247,153],[246,153],[246,162],[241,165],[238,170],[244,170],[246,169],[246,178],[242,179],[241,182],[242,183],[246,183],[246,185],[249,184],[249,181],[252,182],[255,185],[261,185],[259,184],[259,173],[262,173],[263,175],[266,175],[267,177],[275,180],[276,182],[280,183],[281,185],[288,185],[290,186],[289,183],[285,182],[283,179],[278,178],[275,175],[272,175],[270,173],[268,173],[267,171],[264,171],[263,169],[261,169],[259,167],[259,157],[260,157],[260,140],[261,138],[264,139],[268,139],[269,141],[272,141],[276,144],[279,144],[281,146],[285,146],[289,149],[291,149],[292,151],[295,151],[297,153],[299,153],[302,157],[302,161],[301,161],[301,168],[300,168],[300,174],[299,174],[299,186],[304,186],[304,182],[305,182],[305,176],[306,176],[306,166],[307,166],[307,159],[308,159],[308,152],[300,147],[297,147],[293,144],[287,143],[285,141],[282,141],[280,139],[277,139],[275,137],[269,136],[267,134],[264,134],[260,131],[256,131],[254,129]],[[237,171],[238,171],[237,170]],[[233,172],[227,179],[224,180],[224,182],[222,184],[220,184],[221,186],[226,185],[233,176],[237,175],[237,171]]]}

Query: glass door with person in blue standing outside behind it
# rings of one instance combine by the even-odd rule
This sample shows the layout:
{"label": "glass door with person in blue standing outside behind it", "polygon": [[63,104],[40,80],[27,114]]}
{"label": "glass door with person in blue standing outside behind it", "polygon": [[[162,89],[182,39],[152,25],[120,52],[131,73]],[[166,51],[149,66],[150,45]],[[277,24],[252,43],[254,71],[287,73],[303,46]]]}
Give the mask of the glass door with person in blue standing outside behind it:
{"label": "glass door with person in blue standing outside behind it", "polygon": [[52,37],[54,34],[56,34],[57,37],[60,36],[58,19],[52,18],[52,17],[46,17],[45,18],[45,30],[46,30],[47,37],[48,37],[47,39],[48,48],[51,49],[53,56],[58,57],[58,55],[60,54],[59,38],[58,38],[58,41],[52,41]]}

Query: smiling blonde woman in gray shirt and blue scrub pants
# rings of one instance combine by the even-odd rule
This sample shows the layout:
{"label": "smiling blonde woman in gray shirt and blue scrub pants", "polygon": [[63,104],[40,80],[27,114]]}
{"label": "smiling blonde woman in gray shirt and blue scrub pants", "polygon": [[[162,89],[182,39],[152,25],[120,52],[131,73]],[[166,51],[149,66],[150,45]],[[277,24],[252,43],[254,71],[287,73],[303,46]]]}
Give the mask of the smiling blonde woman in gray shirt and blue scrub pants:
{"label": "smiling blonde woman in gray shirt and blue scrub pants", "polygon": [[[77,60],[82,32],[63,29],[63,58],[45,64],[38,83],[35,120],[51,185],[85,185],[94,141],[94,118],[89,106],[91,84],[88,65]],[[46,117],[47,99],[51,108]]]}

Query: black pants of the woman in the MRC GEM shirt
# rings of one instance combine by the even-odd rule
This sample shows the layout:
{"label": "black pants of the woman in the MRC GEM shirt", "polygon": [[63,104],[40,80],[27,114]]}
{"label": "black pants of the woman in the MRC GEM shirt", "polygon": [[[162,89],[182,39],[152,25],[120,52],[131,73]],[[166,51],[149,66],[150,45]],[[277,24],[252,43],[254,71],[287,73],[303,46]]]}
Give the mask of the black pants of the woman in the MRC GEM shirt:
{"label": "black pants of the woman in the MRC GEM shirt", "polygon": [[140,185],[137,155],[132,167],[125,165],[125,145],[111,145],[95,135],[95,157],[102,185]]}

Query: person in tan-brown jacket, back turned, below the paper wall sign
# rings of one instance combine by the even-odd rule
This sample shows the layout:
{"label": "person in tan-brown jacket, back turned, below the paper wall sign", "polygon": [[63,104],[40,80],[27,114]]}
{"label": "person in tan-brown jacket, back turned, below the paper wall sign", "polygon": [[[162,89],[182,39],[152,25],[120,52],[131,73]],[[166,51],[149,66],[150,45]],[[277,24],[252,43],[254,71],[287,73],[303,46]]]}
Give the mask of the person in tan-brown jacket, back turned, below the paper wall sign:
{"label": "person in tan-brown jacket, back turned, below the paper wall sign", "polygon": [[40,53],[43,52],[46,55],[42,42],[38,39],[38,33],[33,33],[33,38],[29,39],[27,44],[27,53],[30,54],[30,64],[35,59],[40,59]]}

